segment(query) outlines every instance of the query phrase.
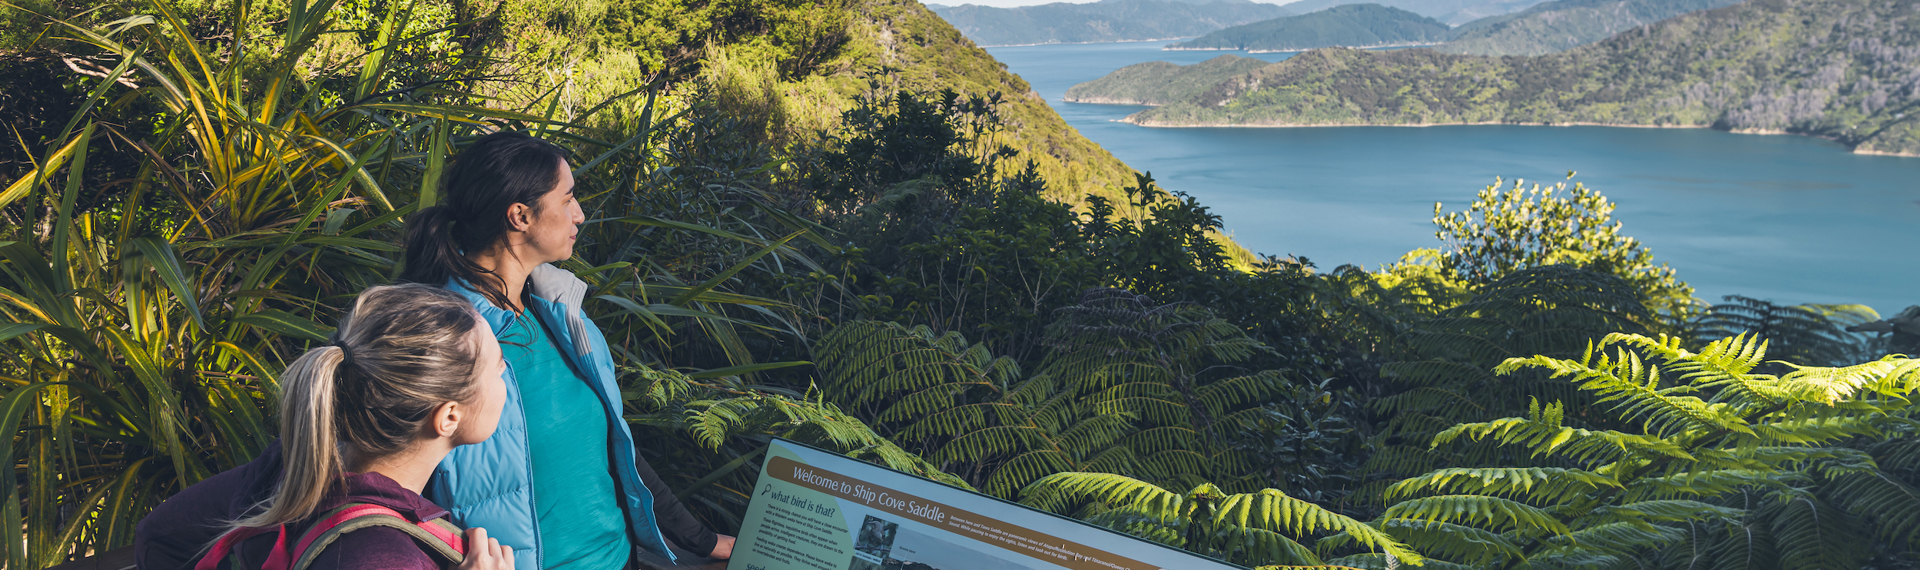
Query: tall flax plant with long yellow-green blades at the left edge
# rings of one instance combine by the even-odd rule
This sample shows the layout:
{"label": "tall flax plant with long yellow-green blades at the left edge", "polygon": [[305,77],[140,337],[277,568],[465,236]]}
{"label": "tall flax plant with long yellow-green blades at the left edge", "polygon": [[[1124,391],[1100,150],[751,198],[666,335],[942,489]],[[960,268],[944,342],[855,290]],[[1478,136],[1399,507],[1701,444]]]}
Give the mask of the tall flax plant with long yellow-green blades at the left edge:
{"label": "tall flax plant with long yellow-green blades at the left edge", "polygon": [[[257,455],[280,363],[324,340],[330,299],[392,271],[411,211],[396,198],[417,190],[390,180],[432,178],[455,121],[540,121],[394,90],[403,10],[359,69],[305,69],[330,6],[292,2],[282,35],[246,38],[257,13],[236,2],[232,42],[165,2],[98,29],[50,19],[115,65],[0,192],[38,213],[0,230],[8,568],[129,545],[161,499]],[[248,65],[246,40],[278,44]],[[336,77],[344,92],[323,84]],[[104,152],[136,173],[98,180],[86,163]]]}

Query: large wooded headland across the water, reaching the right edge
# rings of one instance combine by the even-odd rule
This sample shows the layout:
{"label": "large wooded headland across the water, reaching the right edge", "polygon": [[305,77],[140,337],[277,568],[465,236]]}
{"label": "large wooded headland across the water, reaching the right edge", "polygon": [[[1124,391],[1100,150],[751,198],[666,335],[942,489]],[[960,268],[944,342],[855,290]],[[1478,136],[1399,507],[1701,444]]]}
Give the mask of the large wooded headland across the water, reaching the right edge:
{"label": "large wooded headland across the water, reaching the right edge", "polygon": [[1553,56],[1315,50],[1131,115],[1175,125],[1651,125],[1920,154],[1914,0],[1766,0]]}

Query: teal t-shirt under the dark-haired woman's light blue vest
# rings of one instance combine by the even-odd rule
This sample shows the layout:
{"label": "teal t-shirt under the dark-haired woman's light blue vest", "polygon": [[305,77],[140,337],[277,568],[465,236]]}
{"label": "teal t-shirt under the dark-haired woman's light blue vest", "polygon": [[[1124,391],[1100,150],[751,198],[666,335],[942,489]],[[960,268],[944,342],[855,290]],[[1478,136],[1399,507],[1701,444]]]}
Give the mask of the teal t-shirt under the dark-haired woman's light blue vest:
{"label": "teal t-shirt under the dark-haired woman's light blue vest", "polygon": [[607,468],[607,407],[532,313],[501,330],[499,347],[526,411],[541,568],[624,568],[632,553]]}

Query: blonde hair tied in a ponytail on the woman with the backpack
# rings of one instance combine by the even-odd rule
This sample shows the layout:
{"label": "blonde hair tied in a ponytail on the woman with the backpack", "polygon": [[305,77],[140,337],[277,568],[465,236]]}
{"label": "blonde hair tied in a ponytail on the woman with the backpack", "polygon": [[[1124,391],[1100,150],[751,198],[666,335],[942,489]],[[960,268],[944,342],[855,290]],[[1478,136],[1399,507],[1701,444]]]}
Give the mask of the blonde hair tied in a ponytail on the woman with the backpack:
{"label": "blonde hair tied in a ponytail on the woman with the backpack", "polygon": [[465,297],[422,284],[363,292],[334,342],[280,374],[280,487],[232,528],[313,516],[346,470],[346,453],[376,459],[413,445],[436,407],[472,401],[474,328]]}

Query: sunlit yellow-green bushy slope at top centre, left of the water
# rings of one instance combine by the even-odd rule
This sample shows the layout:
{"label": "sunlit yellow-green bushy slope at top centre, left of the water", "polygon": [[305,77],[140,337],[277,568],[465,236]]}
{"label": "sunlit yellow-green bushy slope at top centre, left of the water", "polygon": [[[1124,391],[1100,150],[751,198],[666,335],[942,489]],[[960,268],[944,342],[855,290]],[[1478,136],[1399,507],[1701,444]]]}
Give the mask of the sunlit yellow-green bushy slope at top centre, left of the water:
{"label": "sunlit yellow-green bushy slope at top centre, left of the water", "polygon": [[[996,111],[1006,129],[995,142],[1020,152],[1016,159],[1021,163],[1035,161],[1054,198],[1079,203],[1087,194],[1119,196],[1117,188],[1133,180],[1133,169],[1073,131],[1023,79],[1006,71],[987,50],[920,2],[851,0],[839,6],[793,2],[793,10],[814,6],[814,15],[795,15],[793,31],[776,25],[772,33],[753,23],[781,17],[781,12],[770,10],[778,4],[685,4],[687,8],[678,12],[659,6],[662,2],[616,0],[609,10],[593,40],[595,48],[574,56],[582,61],[576,71],[584,83],[578,88],[580,106],[593,106],[630,88],[630,81],[637,79],[634,71],[607,71],[618,61],[659,59],[674,69],[699,67],[684,73],[707,73],[724,79],[726,84],[755,84],[747,81],[755,75],[753,61],[774,59],[770,67],[776,77],[766,77],[766,84],[756,88],[774,92],[778,104],[766,113],[768,121],[778,125],[768,129],[791,132],[795,140],[816,138],[820,129],[837,125],[841,111],[854,107],[854,100],[872,90],[872,81],[879,81],[885,88],[916,92],[950,88],[962,96],[1000,94]],[[839,23],[831,17],[839,17]],[[747,21],[747,25],[730,36],[720,25],[699,27],[708,21]],[[783,52],[781,44],[766,46],[781,36],[793,36],[789,42],[795,48]],[[732,58],[743,63],[714,65],[710,48],[691,52],[687,63],[674,63],[672,56],[680,46],[697,46],[705,38],[728,44]],[[820,48],[829,40],[835,42],[831,48]]]}

